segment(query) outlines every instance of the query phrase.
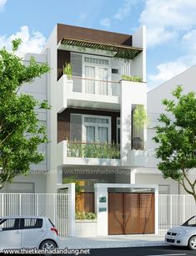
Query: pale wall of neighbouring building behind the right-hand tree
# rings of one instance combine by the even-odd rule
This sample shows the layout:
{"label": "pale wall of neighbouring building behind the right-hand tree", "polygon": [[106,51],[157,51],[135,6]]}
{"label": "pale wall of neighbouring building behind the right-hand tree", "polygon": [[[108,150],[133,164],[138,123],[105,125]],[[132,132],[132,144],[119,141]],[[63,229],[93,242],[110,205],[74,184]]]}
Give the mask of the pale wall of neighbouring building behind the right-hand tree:
{"label": "pale wall of neighbouring building behind the right-hand tree", "polygon": [[[148,115],[152,120],[148,125],[148,150],[152,151],[156,147],[156,144],[152,141],[153,136],[155,136],[155,125],[158,125],[158,115],[160,113],[165,113],[165,110],[162,105],[163,99],[173,99],[172,90],[176,88],[178,85],[183,86],[183,93],[187,94],[189,91],[196,92],[196,65],[191,67],[190,69],[185,70],[183,73],[178,74],[173,77],[173,79],[168,80],[167,82],[159,85],[153,90],[148,91],[147,99],[148,99]],[[165,184],[170,186],[170,193],[180,193],[185,194],[183,187],[178,187],[178,182],[173,182],[171,179],[163,179],[161,174],[158,175],[157,169],[158,160],[154,156],[148,156],[148,170],[147,172],[151,172],[151,175],[138,175],[136,180],[138,183],[148,182],[148,180],[154,180],[157,184]],[[190,176],[192,179],[195,178],[195,169],[191,172]],[[154,173],[154,174],[152,174]]]}

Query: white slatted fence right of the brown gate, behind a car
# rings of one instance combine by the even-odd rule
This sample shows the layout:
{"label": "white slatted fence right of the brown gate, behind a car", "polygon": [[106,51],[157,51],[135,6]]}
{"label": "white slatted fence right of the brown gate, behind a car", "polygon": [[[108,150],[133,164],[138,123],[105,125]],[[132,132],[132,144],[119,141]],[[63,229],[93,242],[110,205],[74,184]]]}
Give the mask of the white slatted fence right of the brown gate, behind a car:
{"label": "white slatted fence right of the brown gate, behind a car", "polygon": [[196,204],[190,195],[159,195],[158,229],[160,234],[184,223],[196,214]]}

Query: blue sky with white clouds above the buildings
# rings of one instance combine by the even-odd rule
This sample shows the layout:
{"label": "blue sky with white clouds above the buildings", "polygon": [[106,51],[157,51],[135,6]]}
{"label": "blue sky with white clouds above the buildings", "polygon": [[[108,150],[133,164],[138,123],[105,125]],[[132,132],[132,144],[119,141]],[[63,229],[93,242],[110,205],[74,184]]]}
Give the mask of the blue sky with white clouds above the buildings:
{"label": "blue sky with white clouds above the buildings", "polygon": [[196,0],[0,0],[0,48],[40,53],[56,23],[133,34],[147,28],[148,90],[196,64]]}

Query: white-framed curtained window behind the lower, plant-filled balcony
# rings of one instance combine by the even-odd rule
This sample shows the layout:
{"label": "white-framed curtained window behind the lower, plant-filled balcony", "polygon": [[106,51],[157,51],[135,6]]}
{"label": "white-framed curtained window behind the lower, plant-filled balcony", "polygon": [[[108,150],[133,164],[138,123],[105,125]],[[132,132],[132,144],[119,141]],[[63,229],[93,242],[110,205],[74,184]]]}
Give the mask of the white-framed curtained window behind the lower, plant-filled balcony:
{"label": "white-framed curtained window behind the lower, plant-filled balcony", "polygon": [[110,118],[98,116],[83,116],[84,141],[109,143],[110,139]]}

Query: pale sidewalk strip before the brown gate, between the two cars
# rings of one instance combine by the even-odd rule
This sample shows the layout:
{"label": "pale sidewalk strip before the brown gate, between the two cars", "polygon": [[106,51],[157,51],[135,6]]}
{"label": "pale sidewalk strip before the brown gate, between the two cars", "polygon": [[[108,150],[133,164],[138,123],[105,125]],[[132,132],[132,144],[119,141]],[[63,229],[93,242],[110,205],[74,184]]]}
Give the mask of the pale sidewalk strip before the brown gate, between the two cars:
{"label": "pale sidewalk strip before the brown gate, between the two cars", "polygon": [[119,248],[164,246],[163,235],[110,235],[93,238],[62,238],[61,248]]}

